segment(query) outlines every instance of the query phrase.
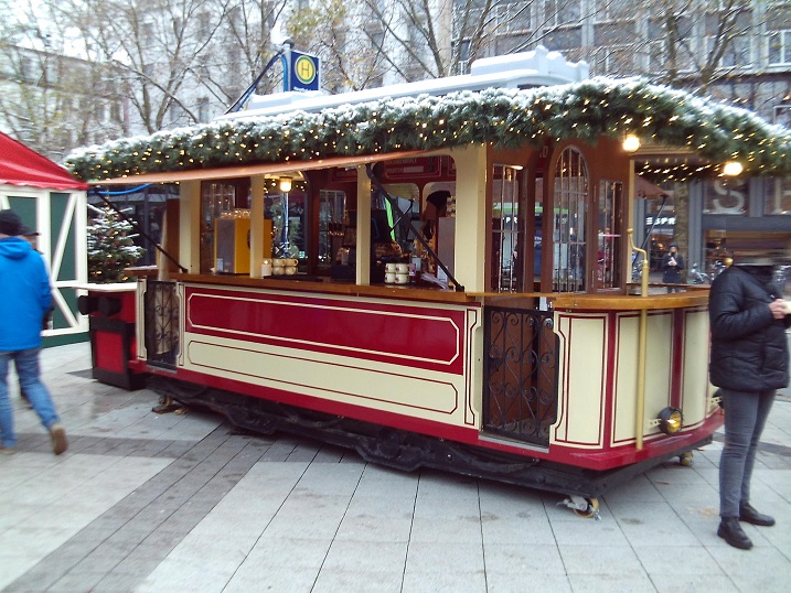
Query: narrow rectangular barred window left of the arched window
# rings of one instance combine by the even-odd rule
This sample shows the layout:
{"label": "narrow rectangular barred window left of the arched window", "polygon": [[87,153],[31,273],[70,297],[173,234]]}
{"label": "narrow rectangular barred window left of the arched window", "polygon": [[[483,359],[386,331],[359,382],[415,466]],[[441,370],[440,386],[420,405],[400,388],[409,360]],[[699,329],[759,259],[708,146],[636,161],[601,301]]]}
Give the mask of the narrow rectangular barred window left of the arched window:
{"label": "narrow rectangular barred window left of the arched window", "polygon": [[[492,165],[490,288],[494,292],[524,291],[523,263],[519,257],[525,246],[522,169],[501,163]],[[510,217],[503,215],[506,203]]]}

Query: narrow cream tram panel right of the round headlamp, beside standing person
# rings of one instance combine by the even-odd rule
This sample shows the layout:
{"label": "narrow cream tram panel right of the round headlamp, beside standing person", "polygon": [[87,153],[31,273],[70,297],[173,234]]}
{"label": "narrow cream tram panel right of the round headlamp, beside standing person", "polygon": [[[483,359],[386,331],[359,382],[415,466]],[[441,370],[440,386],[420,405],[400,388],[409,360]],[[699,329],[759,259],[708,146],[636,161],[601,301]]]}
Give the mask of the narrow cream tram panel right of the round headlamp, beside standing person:
{"label": "narrow cream tram panel right of the round headlamp, beside standing person", "polygon": [[684,330],[681,409],[684,427],[694,427],[706,419],[712,389],[708,382],[708,311],[687,311]]}

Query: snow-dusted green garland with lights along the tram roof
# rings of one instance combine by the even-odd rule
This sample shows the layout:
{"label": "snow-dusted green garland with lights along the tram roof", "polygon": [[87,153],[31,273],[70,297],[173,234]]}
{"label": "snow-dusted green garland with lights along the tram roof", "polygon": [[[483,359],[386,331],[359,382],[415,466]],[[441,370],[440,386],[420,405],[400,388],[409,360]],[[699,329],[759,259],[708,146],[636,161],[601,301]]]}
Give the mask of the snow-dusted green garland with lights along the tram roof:
{"label": "snow-dusted green garland with lights along the tram roof", "polygon": [[[244,116],[244,114],[242,114]],[[640,78],[591,78],[526,90],[457,91],[383,99],[274,117],[242,117],[73,151],[79,179],[104,179],[263,162],[491,143],[545,137],[595,142],[635,133],[643,142],[690,148],[752,175],[791,175],[791,130],[746,109]]]}

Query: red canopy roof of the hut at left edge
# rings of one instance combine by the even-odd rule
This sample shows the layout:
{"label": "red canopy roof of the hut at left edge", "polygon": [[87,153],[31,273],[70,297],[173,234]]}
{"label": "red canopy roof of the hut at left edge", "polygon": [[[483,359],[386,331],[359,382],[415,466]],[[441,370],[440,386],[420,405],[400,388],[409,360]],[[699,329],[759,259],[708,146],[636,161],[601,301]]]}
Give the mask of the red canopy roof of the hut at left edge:
{"label": "red canopy roof of the hut at left edge", "polygon": [[60,164],[0,132],[0,185],[30,185],[47,190],[87,190]]}

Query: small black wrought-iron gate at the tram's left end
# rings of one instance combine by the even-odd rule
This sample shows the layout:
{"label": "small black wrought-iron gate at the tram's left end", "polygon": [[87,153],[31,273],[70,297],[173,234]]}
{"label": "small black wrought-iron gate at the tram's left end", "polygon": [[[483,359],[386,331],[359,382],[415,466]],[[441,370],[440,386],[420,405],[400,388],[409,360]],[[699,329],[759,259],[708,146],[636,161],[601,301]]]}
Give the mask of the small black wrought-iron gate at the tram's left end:
{"label": "small black wrought-iron gate at the tram's left end", "polygon": [[175,368],[179,353],[179,300],[175,282],[146,283],[146,351],[148,363]]}

